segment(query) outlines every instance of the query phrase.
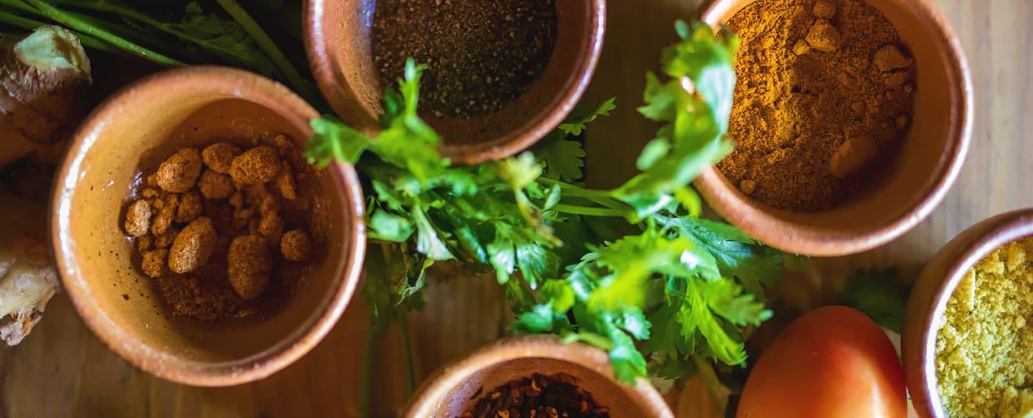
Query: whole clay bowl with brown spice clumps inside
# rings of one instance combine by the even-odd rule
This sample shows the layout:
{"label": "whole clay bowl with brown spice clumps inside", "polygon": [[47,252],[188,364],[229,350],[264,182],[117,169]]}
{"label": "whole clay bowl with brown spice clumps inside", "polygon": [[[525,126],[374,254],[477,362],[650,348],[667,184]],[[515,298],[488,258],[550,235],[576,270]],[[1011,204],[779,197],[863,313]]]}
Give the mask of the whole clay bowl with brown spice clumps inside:
{"label": "whole clay bowl with brown spice clumps inside", "polygon": [[350,165],[302,155],[317,112],[246,71],[191,67],[117,93],[57,174],[64,287],[112,350],[199,386],[262,379],[344,312],[365,255]]}

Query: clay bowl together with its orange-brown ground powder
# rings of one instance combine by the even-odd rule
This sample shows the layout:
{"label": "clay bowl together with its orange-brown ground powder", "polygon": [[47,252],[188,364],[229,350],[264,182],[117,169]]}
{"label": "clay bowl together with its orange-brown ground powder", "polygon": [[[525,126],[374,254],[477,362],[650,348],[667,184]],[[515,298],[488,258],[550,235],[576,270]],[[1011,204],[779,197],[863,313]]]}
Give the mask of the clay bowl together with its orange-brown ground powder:
{"label": "clay bowl together with its orange-brown ground powder", "polygon": [[715,212],[781,250],[840,256],[921,222],[961,170],[971,77],[921,0],[717,0],[742,39],[727,138],[695,181]]}

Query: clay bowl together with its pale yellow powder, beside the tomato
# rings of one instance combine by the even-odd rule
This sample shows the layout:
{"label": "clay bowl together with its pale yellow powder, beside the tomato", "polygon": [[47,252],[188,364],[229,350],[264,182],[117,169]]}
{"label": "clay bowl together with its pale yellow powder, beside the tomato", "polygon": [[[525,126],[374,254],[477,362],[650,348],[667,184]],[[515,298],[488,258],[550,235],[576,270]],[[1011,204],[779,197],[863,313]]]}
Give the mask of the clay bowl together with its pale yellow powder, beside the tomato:
{"label": "clay bowl together with its pale yellow powder, beside the tomato", "polygon": [[982,221],[930,260],[902,354],[919,416],[1033,416],[1033,208]]}

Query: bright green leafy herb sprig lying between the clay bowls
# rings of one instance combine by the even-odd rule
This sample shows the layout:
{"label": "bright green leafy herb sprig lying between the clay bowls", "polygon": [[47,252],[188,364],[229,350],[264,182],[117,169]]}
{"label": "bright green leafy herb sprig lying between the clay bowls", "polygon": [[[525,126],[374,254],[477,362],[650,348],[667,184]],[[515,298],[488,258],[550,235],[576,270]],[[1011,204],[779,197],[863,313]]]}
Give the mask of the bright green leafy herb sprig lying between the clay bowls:
{"label": "bright green leafy herb sprig lying between the clay bowls", "polygon": [[309,158],[355,164],[371,196],[370,236],[401,257],[390,274],[368,277],[383,281],[365,292],[374,312],[403,317],[421,302],[431,267],[457,260],[495,271],[516,314],[512,329],[600,347],[622,380],[650,369],[678,378],[700,360],[743,364],[750,327],[771,317],[763,290],[785,256],[699,218],[688,184],[731,149],[723,135],[739,41],[701,24],[676,29],[681,40],[661,60],[668,79],[650,74],[638,109],[662,126],[638,159],[643,172],[613,190],[575,184],[585,152],[571,138],[613,100],[532,151],[478,166],[437,154],[441,138],[417,116],[422,67],[411,60],[398,91],[384,94],[376,138],[333,117],[313,121]]}

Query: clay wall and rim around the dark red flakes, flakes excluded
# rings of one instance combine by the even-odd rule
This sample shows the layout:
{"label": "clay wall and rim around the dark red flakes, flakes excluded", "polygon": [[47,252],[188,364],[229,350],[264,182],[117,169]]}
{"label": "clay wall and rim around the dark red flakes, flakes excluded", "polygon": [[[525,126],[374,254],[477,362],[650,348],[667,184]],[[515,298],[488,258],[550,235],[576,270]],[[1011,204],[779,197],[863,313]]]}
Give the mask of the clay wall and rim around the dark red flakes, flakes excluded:
{"label": "clay wall and rim around the dark red flakes, flakes excluded", "polygon": [[504,340],[457,363],[447,365],[424,382],[409,401],[406,418],[453,418],[476,404],[480,393],[532,374],[563,373],[592,394],[609,415],[674,418],[660,393],[645,379],[635,386],[614,379],[606,353],[582,344],[562,344],[555,336],[521,336]]}

